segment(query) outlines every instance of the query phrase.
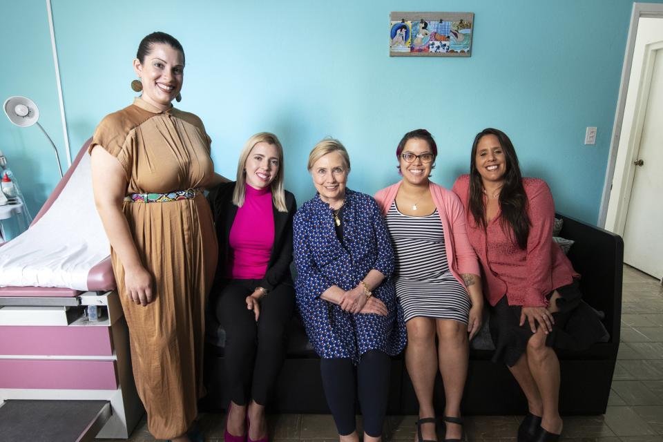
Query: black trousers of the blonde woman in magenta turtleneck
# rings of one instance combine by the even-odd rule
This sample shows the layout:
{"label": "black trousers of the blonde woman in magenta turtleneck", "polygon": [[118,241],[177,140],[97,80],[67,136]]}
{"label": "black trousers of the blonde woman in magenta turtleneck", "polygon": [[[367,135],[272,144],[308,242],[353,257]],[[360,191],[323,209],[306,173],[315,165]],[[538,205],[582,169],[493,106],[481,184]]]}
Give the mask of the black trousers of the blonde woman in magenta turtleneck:
{"label": "black trousers of the blonde woman in magenta turtleneck", "polygon": [[237,405],[248,405],[251,398],[267,405],[285,359],[285,327],[295,306],[294,287],[280,284],[260,298],[256,322],[246,298],[257,286],[258,280],[229,280],[216,303],[216,316],[226,332],[227,385]]}

